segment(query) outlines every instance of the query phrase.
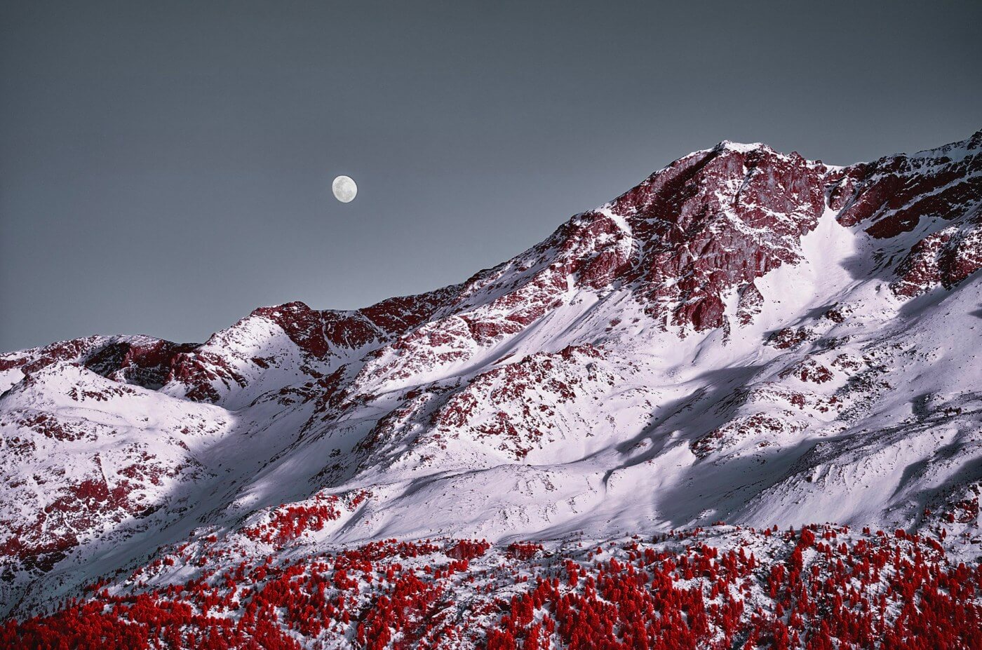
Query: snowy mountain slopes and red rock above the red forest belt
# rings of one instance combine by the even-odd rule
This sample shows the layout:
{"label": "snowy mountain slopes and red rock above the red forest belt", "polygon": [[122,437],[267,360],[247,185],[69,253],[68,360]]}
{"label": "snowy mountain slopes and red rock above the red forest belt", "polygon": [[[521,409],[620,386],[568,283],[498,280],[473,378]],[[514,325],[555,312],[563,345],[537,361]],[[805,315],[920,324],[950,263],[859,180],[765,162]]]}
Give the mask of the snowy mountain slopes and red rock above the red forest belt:
{"label": "snowy mountain slopes and red rock above the red forest belt", "polygon": [[719,521],[724,550],[748,527],[900,528],[977,571],[980,268],[982,131],[848,167],[724,141],[459,285],[262,307],[201,345],[4,354],[0,612],[226,556],[483,538],[530,558]]}

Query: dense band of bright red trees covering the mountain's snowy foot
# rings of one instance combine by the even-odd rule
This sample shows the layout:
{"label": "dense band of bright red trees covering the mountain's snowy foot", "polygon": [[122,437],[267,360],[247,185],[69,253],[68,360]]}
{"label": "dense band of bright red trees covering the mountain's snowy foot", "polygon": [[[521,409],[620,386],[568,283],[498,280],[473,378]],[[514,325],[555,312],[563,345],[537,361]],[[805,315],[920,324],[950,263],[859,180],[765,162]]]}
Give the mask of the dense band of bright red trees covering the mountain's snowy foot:
{"label": "dense band of bright red trees covering the mountain's snowy foot", "polygon": [[982,569],[954,565],[938,542],[902,530],[714,538],[696,529],[585,556],[541,557],[541,548],[489,554],[486,542],[461,540],[446,553],[460,559],[448,564],[428,541],[389,540],[221,570],[209,569],[221,564],[209,552],[195,579],[146,586],[174,564],[167,556],[130,582],[93,585],[53,615],[8,621],[0,647],[982,647]]}

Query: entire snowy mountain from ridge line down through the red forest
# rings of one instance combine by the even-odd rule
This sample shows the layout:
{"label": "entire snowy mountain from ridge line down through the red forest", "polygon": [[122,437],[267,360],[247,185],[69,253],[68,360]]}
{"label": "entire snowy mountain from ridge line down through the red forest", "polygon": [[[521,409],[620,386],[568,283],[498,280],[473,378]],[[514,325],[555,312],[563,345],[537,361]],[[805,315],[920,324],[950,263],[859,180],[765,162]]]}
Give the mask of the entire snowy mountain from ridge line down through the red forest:
{"label": "entire snowy mountain from ridge line down through the red forest", "polygon": [[459,285],[4,354],[0,640],[982,643],[980,268],[982,131],[724,141]]}

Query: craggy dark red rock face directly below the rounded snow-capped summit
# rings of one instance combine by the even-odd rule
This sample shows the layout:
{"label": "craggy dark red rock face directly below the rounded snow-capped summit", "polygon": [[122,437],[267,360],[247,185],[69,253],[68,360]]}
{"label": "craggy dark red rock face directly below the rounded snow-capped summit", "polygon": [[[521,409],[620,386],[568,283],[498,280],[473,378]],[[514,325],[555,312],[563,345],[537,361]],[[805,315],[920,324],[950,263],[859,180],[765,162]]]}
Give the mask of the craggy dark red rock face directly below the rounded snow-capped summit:
{"label": "craggy dark red rock face directly below the rounded snow-capped summit", "polygon": [[667,324],[722,326],[730,291],[752,301],[754,279],[800,259],[825,207],[826,171],[765,146],[682,158],[611,204],[639,248],[625,280]]}

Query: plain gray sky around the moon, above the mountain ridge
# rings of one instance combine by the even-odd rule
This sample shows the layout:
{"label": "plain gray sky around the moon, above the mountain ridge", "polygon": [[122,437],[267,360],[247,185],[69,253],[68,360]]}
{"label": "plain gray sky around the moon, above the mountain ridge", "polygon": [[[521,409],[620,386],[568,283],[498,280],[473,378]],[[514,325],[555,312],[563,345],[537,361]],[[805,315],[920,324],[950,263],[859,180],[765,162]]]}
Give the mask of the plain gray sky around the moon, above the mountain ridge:
{"label": "plain gray sky around the moon, above the mountain ridge", "polygon": [[961,139],[980,25],[979,2],[4,0],[0,350],[459,282],[724,138],[836,164]]}

